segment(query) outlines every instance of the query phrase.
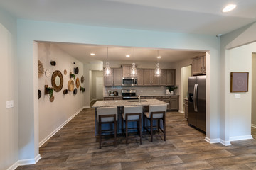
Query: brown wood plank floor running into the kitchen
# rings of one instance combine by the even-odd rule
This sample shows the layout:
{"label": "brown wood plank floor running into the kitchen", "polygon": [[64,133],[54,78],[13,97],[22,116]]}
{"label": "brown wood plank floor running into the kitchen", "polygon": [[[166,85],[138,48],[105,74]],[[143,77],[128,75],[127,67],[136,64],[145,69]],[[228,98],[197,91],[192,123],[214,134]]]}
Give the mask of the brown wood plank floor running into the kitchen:
{"label": "brown wood plank floor running into the kitchen", "polygon": [[166,121],[166,142],[155,137],[151,143],[144,133],[142,145],[126,146],[119,136],[116,148],[98,149],[94,109],[84,109],[40,148],[38,163],[17,169],[256,169],[256,140],[209,144],[182,113],[168,112]]}

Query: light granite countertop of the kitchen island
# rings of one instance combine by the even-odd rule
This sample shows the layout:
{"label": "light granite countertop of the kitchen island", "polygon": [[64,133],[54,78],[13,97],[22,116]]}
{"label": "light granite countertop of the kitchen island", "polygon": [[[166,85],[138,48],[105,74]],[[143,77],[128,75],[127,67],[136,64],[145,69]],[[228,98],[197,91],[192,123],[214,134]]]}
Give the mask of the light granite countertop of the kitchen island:
{"label": "light granite countertop of the kitchen island", "polygon": [[149,106],[156,104],[166,104],[168,103],[164,101],[159,101],[157,99],[142,99],[142,102],[129,102],[129,100],[117,100],[117,101],[96,101],[92,108],[100,108],[100,107],[113,107],[113,106]]}

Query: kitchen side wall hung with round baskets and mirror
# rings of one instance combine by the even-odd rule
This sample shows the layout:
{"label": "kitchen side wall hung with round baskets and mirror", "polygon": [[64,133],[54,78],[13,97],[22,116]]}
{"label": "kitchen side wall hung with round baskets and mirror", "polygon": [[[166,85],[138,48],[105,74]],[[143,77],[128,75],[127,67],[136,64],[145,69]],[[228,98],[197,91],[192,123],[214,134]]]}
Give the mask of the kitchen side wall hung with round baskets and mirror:
{"label": "kitchen side wall hung with round baskets and mirror", "polygon": [[[39,143],[42,145],[53,135],[55,130],[58,130],[69,118],[81,111],[84,106],[84,93],[80,91],[80,87],[76,95],[73,94],[73,91],[68,91],[66,95],[63,94],[63,90],[68,89],[69,74],[70,72],[74,74],[75,67],[79,68],[79,73],[75,74],[75,79],[78,77],[80,86],[83,87],[85,82],[83,84],[81,82],[83,64],[54,44],[38,42],[38,60],[41,60],[45,70],[48,69],[50,71],[50,77],[46,77],[43,74],[43,77],[38,79],[38,89],[42,92],[42,96],[38,100]],[[56,62],[55,66],[50,65],[51,60]],[[66,75],[64,74],[64,69],[68,72]],[[53,96],[55,99],[50,102],[49,94],[44,94],[44,86],[48,84],[49,87],[52,87],[51,76],[55,70],[59,70],[63,74],[63,89],[59,92],[54,91]]]}

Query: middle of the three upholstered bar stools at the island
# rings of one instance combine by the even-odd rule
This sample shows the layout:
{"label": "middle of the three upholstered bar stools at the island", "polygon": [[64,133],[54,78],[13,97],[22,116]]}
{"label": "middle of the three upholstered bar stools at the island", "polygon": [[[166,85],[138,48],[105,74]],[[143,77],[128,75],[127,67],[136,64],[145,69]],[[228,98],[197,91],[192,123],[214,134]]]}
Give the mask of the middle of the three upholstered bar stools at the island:
{"label": "middle of the three upholstered bar stools at the island", "polygon": [[[137,128],[128,128],[129,122],[137,122]],[[124,113],[122,114],[122,131],[124,132],[126,145],[128,145],[128,130],[137,130],[139,133],[139,142],[142,145],[142,106],[124,106]]]}

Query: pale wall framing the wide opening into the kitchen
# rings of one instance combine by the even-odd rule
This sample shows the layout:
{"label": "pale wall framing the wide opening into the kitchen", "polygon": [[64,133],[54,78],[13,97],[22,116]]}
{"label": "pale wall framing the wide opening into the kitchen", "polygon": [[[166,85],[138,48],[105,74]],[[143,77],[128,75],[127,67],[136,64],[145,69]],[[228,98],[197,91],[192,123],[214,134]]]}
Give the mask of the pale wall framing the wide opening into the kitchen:
{"label": "pale wall framing the wide opening into the kitchen", "polygon": [[[170,48],[180,50],[210,50],[210,74],[207,79],[209,117],[206,136],[208,139],[218,138],[218,72],[219,72],[219,39],[210,35],[192,35],[183,33],[165,33],[148,30],[129,30],[120,28],[103,28],[93,26],[82,26],[68,23],[53,23],[44,21],[18,20],[18,58],[19,64],[19,91],[21,91],[19,101],[19,111],[21,120],[20,146],[21,159],[33,159],[38,154],[38,145],[36,144],[36,127],[33,124],[34,118],[38,115],[35,103],[38,99],[33,94],[37,93],[37,84],[33,81],[37,79],[36,72],[37,56],[33,55],[33,41],[53,41],[53,42],[74,42],[99,45],[120,45],[130,47],[154,47]],[[208,64],[209,64],[208,63]],[[89,82],[89,64],[84,64],[85,88],[90,85]],[[23,75],[26,75],[26,81],[23,81]],[[29,89],[24,90],[24,89]],[[90,88],[88,89],[90,91]],[[217,90],[217,94],[216,93]],[[213,95],[212,95],[213,94]],[[26,98],[26,100],[23,100]],[[85,103],[90,103],[90,94],[85,89]],[[36,124],[36,122],[35,122]]]}

